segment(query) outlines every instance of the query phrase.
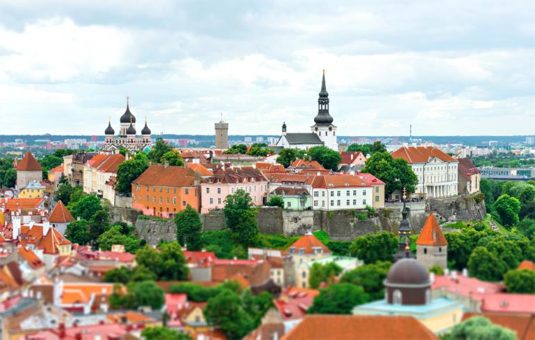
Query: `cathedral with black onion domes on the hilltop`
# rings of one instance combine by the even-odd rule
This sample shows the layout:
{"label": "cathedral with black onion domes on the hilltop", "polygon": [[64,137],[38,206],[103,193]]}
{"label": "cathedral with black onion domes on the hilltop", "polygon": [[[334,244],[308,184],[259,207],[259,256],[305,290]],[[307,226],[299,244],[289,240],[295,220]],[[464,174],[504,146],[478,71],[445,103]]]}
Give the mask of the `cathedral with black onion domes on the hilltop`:
{"label": "cathedral with black onion domes on the hilltop", "polygon": [[135,117],[130,112],[128,98],[126,98],[126,111],[120,118],[120,124],[119,134],[115,135],[111,121],[108,121],[108,128],[104,131],[106,135],[104,151],[113,152],[121,146],[129,151],[142,151],[145,148],[150,148],[151,130],[147,126],[147,119],[145,119],[145,127],[141,130],[141,137],[138,137],[135,130]]}

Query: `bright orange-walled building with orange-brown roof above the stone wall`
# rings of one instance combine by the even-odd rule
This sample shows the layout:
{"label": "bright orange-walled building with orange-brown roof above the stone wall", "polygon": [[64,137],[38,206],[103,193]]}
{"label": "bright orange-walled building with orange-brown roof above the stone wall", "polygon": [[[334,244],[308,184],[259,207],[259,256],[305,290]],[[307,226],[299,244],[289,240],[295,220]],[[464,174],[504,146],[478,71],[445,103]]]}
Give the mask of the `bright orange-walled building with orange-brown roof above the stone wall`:
{"label": "bright orange-walled building with orange-brown roof above the stone wall", "polygon": [[132,182],[132,207],[168,219],[188,204],[198,211],[199,183],[199,174],[190,168],[151,165]]}

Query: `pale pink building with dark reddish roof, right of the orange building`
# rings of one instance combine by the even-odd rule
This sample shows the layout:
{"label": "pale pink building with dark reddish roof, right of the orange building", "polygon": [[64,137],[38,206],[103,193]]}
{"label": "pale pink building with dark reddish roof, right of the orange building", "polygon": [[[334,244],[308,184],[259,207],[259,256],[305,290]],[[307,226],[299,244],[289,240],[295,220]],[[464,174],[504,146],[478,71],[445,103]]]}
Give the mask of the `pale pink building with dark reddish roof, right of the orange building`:
{"label": "pale pink building with dark reddish roof, right of the orange building", "polygon": [[228,195],[245,190],[255,205],[262,205],[268,194],[268,180],[254,167],[220,169],[201,182],[201,213],[222,209]]}

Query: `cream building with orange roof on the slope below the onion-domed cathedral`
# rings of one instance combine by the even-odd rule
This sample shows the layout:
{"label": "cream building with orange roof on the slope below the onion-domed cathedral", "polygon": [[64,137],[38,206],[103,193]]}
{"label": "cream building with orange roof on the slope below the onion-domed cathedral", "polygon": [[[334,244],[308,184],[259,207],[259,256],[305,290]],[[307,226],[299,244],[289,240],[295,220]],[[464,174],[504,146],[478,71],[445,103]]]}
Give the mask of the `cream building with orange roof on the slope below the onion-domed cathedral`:
{"label": "cream building with orange roof on the slope below the onion-domed cathedral", "polygon": [[106,182],[117,173],[117,168],[124,162],[124,155],[114,153],[111,155],[96,155],[83,167],[83,192],[103,195]]}

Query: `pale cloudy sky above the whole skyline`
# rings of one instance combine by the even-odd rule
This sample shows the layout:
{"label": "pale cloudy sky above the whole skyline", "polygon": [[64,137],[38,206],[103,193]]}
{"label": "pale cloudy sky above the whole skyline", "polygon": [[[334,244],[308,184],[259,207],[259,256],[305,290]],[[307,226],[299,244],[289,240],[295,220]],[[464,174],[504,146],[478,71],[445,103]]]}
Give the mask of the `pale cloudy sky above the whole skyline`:
{"label": "pale cloudy sky above the whole skyline", "polygon": [[[0,134],[535,134],[535,1],[1,0]],[[138,127],[140,130],[141,127]]]}

